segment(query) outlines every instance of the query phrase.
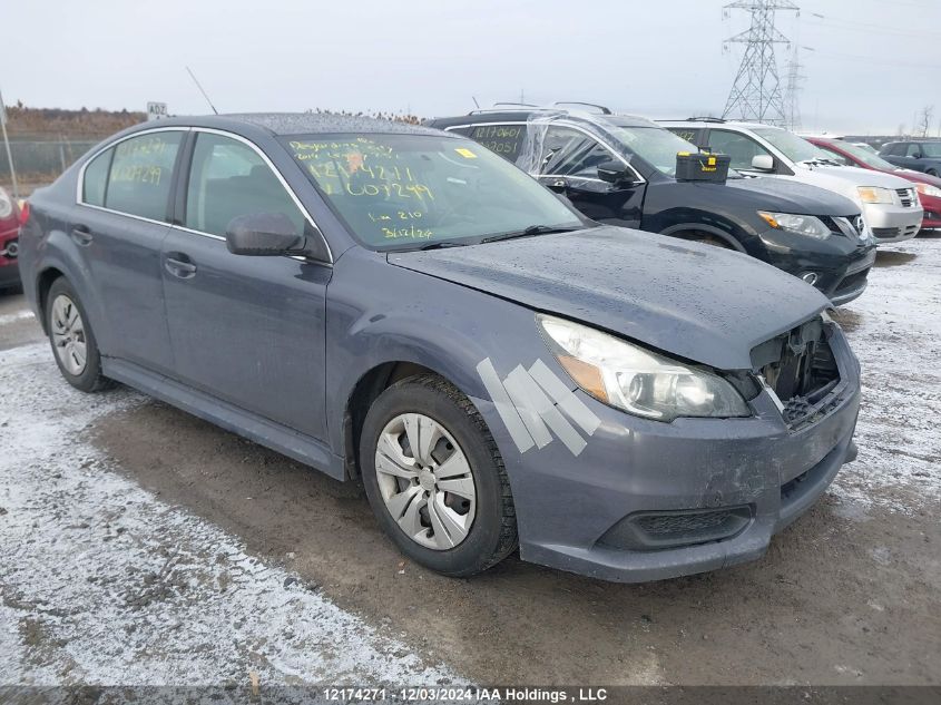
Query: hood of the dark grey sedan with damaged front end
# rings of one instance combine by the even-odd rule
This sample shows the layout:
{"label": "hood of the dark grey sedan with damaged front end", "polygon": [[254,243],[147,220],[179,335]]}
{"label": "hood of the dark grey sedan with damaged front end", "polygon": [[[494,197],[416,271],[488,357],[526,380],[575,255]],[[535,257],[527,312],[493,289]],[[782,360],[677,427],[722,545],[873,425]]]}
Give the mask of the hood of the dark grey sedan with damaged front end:
{"label": "hood of the dark grey sedan with damaged front end", "polygon": [[722,370],[830,305],[747,255],[612,226],[388,257]]}

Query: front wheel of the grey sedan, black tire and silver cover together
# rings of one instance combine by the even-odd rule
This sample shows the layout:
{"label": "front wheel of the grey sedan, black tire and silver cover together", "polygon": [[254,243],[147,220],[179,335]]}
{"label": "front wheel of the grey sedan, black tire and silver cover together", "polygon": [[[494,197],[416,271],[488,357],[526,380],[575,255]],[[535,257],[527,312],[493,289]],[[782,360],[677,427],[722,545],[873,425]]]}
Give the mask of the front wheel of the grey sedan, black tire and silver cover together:
{"label": "front wheel of the grey sedan, black tire and silver cover together", "polygon": [[503,460],[477,408],[422,374],[375,400],[360,468],[383,531],[409,558],[451,577],[481,572],[518,542]]}

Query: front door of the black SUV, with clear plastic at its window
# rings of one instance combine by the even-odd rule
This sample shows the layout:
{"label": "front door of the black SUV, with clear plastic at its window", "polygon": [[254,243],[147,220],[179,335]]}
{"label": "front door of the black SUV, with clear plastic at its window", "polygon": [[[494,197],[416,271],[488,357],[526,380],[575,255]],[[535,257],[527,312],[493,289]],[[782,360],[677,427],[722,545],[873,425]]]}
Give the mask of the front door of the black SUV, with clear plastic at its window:
{"label": "front door of the black SUV, with clear plastic at its window", "polygon": [[600,223],[640,227],[646,183],[634,169],[635,184],[614,186],[598,177],[598,166],[625,160],[580,129],[552,125],[535,140],[539,149],[537,178],[565,194],[581,213]]}

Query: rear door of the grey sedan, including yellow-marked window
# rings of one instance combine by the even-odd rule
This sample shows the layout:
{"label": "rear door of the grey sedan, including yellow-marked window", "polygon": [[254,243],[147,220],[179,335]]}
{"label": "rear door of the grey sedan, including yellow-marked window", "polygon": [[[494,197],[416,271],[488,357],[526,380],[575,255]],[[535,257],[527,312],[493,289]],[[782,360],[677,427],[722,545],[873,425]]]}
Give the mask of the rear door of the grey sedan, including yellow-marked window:
{"label": "rear door of the grey sedan, including yellow-marked window", "polygon": [[69,233],[101,302],[102,353],[158,372],[173,366],[160,247],[187,129],[135,135],[92,158]]}

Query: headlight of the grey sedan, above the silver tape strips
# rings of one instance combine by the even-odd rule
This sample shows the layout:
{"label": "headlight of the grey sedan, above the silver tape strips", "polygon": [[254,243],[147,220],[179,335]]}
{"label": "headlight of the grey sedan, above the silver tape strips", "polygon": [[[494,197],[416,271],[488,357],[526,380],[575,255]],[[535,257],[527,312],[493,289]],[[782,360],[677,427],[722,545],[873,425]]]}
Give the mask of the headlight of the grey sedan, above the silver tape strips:
{"label": "headlight of the grey sedan, above the silver tape strips", "polygon": [[670,360],[587,325],[538,315],[549,349],[576,384],[628,413],[677,417],[748,417],[742,395],[724,379]]}

